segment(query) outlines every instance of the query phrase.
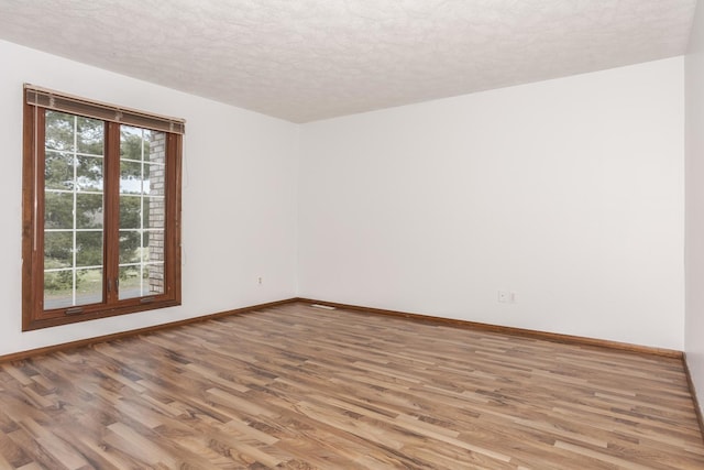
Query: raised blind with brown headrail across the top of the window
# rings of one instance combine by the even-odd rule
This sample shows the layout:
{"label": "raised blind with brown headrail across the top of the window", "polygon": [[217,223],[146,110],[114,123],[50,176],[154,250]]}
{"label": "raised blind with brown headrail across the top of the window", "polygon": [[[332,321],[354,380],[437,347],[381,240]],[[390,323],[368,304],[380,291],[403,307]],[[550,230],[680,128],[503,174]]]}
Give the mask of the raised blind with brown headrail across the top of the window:
{"label": "raised blind with brown headrail across the top of the window", "polygon": [[186,133],[186,120],[152,114],[24,84],[28,105],[174,134]]}

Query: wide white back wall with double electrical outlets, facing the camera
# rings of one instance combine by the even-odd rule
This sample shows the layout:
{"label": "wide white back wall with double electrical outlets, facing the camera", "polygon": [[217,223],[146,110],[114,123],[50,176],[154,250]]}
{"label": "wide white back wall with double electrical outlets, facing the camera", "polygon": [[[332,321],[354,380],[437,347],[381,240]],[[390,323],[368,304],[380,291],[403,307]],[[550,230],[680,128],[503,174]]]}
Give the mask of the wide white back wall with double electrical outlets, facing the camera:
{"label": "wide white back wall with double electrical outlets, facing the camera", "polygon": [[306,124],[299,294],[682,350],[683,107],[676,57]]}

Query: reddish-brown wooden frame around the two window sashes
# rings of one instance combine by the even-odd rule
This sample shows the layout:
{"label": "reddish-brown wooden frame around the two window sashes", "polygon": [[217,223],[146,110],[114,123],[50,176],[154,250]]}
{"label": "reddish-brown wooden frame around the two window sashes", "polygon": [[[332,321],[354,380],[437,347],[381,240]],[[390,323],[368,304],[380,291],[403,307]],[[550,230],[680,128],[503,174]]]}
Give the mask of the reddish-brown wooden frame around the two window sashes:
{"label": "reddish-brown wooden frame around the two window sashes", "polygon": [[[180,210],[183,123],[178,131],[169,132],[157,125],[136,124],[166,134],[166,190],[164,221],[164,293],[119,299],[117,288],[119,270],[119,175],[120,125],[119,121],[105,121],[103,189],[103,283],[102,302],[81,305],[80,308],[63,307],[44,309],[44,138],[45,113],[53,109],[42,103],[30,103],[25,86],[23,97],[23,174],[22,174],[22,330],[74,324],[117,315],[133,314],[180,305]],[[70,97],[75,99],[75,97]],[[53,101],[53,100],[52,100]],[[82,102],[91,103],[84,100]],[[97,103],[97,102],[96,102]],[[98,103],[101,107],[109,105]],[[78,112],[75,116],[86,116]],[[138,112],[140,117],[152,114]],[[122,113],[116,113],[122,116]],[[94,117],[94,116],[87,116]],[[156,117],[160,119],[161,117]],[[124,122],[122,122],[124,123]],[[130,123],[128,123],[130,124]],[[130,124],[131,125],[131,124]],[[173,129],[173,125],[172,125]],[[117,168],[116,168],[117,165]]]}

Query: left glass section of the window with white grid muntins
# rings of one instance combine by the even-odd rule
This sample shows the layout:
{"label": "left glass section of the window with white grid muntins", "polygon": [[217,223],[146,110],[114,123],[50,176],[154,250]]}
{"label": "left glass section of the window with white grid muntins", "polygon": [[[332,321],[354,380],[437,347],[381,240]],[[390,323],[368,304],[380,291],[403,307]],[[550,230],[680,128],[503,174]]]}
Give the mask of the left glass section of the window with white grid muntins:
{"label": "left glass section of the window with white grid muntins", "polygon": [[46,309],[102,302],[103,159],[79,153],[102,155],[103,134],[103,121],[46,112]]}

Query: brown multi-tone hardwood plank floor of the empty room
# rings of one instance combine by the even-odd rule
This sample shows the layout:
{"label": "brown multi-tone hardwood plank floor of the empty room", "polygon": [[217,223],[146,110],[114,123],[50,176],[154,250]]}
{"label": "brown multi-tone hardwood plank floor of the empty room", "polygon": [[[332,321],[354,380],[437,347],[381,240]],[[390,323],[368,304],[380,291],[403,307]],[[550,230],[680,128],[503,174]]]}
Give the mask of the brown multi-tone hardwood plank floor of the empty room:
{"label": "brown multi-tone hardwood plank floor of the empty room", "polygon": [[272,307],[0,364],[1,469],[704,469],[681,361]]}

